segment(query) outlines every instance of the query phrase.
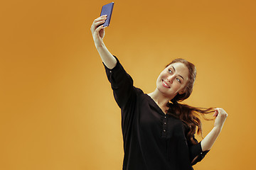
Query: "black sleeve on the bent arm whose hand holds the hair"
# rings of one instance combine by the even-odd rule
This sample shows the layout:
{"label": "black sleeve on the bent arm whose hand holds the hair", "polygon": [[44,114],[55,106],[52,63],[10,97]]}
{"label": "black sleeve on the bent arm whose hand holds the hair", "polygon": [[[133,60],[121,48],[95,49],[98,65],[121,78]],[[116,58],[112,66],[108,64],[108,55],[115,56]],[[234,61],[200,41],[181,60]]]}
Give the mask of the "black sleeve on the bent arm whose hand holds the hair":
{"label": "black sleeve on the bent arm whose hand holds the hair", "polygon": [[193,140],[195,140],[197,142],[197,144],[192,144],[192,142],[188,142],[188,149],[189,149],[189,157],[191,159],[191,162],[193,161],[193,159],[195,159],[192,162],[192,165],[201,162],[201,160],[206,156],[206,154],[210,151],[202,151],[202,147],[201,147],[201,142],[198,143],[198,141],[196,140],[195,136],[193,136]]}

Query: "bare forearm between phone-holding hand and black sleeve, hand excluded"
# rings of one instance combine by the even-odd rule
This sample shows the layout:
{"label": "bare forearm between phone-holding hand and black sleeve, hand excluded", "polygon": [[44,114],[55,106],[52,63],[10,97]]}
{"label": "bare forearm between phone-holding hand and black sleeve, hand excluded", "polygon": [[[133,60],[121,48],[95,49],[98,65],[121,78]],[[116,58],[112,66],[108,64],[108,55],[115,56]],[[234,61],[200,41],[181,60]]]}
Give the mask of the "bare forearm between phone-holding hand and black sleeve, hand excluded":
{"label": "bare forearm between phone-holding hand and black sleeve, hand excluded", "polygon": [[110,51],[107,50],[105,44],[102,43],[102,45],[96,46],[96,49],[100,54],[102,62],[107,66],[107,68],[113,69],[117,64],[117,60],[110,53]]}

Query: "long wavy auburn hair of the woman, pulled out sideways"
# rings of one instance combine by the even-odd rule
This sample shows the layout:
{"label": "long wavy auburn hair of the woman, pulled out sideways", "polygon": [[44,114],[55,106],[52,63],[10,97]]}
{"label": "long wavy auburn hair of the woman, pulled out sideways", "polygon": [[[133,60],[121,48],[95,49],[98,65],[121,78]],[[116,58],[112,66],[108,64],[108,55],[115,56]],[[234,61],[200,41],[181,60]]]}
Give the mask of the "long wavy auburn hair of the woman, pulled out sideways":
{"label": "long wavy auburn hair of the woman, pulled out sideways", "polygon": [[166,67],[176,62],[181,62],[185,64],[186,67],[188,67],[188,82],[184,89],[185,93],[176,94],[176,96],[171,99],[171,102],[167,103],[167,106],[169,107],[167,114],[173,115],[174,117],[180,119],[181,121],[183,121],[183,123],[185,123],[188,128],[188,132],[186,135],[187,140],[191,140],[193,144],[196,144],[196,141],[193,139],[193,135],[196,133],[196,128],[197,134],[200,134],[201,137],[203,137],[202,123],[199,119],[199,116],[202,115],[205,120],[213,120],[206,118],[204,115],[207,113],[213,113],[214,109],[196,108],[193,106],[188,106],[186,104],[178,103],[191,96],[191,93],[193,91],[193,84],[196,80],[196,67],[191,62],[188,62],[187,60],[181,58],[173,60],[171,63],[167,64]]}

